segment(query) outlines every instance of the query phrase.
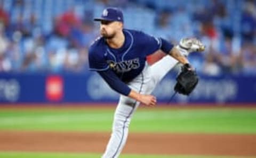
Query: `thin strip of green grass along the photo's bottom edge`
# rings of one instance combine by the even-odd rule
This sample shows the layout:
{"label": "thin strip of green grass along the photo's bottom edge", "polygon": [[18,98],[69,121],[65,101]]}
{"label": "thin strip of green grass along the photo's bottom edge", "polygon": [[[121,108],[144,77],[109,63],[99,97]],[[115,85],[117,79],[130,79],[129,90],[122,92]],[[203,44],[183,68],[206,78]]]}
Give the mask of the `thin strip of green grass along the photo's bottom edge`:
{"label": "thin strip of green grass along the photo's bottom edge", "polygon": [[[100,154],[84,153],[27,153],[27,152],[0,152],[5,158],[98,158]],[[124,154],[120,158],[242,158],[240,156],[179,156],[179,155],[133,155]],[[249,158],[243,156],[243,158]]]}

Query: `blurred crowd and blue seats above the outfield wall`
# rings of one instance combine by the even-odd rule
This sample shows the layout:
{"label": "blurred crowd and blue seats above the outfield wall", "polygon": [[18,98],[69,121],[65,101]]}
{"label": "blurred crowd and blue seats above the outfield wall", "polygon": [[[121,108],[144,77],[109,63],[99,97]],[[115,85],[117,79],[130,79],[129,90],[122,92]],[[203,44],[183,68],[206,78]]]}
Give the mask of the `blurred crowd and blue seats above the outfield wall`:
{"label": "blurred crowd and blue seats above the outfield wall", "polygon": [[256,1],[240,0],[0,0],[0,72],[87,73],[93,17],[107,6],[123,10],[125,28],[203,40],[189,57],[198,73],[256,75]]}

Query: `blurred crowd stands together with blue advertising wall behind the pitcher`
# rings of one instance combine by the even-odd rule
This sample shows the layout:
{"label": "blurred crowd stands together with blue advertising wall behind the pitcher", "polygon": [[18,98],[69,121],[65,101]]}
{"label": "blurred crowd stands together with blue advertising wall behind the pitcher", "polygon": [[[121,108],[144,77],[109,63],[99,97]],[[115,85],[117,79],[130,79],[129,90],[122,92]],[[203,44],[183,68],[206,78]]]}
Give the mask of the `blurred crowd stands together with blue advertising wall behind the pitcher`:
{"label": "blurred crowd stands together with blue advertising wall behind the pitcher", "polygon": [[[99,36],[99,24],[92,19],[103,8],[115,6],[123,10],[127,29],[174,44],[184,37],[205,43],[203,54],[189,57],[202,76],[201,84],[191,99],[177,96],[174,101],[255,102],[255,4],[240,0],[1,0],[0,101],[116,101],[117,94],[88,71],[87,62],[88,47]],[[161,57],[158,52],[149,62]],[[173,93],[175,71],[163,81],[170,87],[165,86],[164,93],[155,91],[159,101],[166,102]]]}

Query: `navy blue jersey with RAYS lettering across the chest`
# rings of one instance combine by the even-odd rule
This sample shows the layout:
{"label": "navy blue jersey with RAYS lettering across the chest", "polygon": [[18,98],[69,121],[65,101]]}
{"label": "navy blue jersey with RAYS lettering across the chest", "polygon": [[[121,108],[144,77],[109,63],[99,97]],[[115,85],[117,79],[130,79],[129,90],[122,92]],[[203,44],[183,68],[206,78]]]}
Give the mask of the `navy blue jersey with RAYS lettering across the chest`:
{"label": "navy blue jersey with RAYS lettering across the chest", "polygon": [[112,69],[123,82],[129,82],[138,76],[146,64],[146,57],[162,48],[172,49],[171,44],[161,38],[155,38],[141,31],[123,30],[125,41],[121,48],[107,45],[103,37],[94,41],[89,49],[89,67],[91,71]]}

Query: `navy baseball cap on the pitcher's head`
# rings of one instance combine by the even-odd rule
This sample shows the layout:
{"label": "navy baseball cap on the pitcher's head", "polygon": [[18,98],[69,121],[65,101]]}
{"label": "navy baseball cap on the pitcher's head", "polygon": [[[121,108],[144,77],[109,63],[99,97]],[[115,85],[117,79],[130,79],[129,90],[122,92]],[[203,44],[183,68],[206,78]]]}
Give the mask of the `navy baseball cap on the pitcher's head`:
{"label": "navy baseball cap on the pitcher's head", "polygon": [[103,10],[101,17],[95,18],[94,21],[120,21],[124,22],[124,16],[121,10],[114,7],[109,7]]}

